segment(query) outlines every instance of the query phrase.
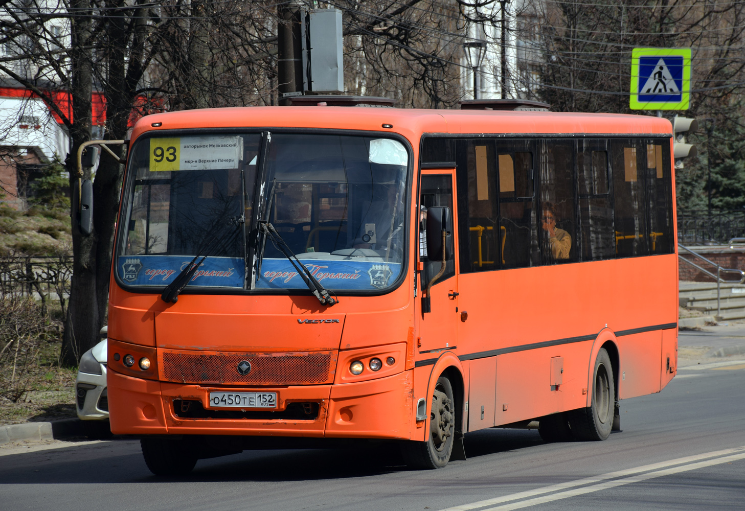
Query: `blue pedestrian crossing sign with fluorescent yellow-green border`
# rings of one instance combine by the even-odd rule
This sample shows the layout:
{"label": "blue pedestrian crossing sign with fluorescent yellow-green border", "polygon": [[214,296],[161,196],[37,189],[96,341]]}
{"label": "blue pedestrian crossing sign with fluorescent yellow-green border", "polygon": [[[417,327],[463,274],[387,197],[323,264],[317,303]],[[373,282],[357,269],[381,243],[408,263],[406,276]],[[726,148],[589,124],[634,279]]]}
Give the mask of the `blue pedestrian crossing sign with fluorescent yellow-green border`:
{"label": "blue pedestrian crossing sign with fluorescent yellow-green border", "polygon": [[687,110],[691,102],[691,48],[634,48],[633,110]]}

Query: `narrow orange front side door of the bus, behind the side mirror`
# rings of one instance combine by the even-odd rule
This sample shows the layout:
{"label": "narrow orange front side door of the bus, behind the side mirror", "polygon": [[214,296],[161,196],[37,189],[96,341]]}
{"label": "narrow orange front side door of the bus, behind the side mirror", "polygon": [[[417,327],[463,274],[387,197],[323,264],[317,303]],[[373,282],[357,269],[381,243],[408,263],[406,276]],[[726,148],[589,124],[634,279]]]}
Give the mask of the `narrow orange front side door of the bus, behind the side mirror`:
{"label": "narrow orange front side door of the bus, behind the side mirror", "polygon": [[[457,258],[457,210],[454,195],[455,171],[437,170],[422,171],[422,182],[419,187],[419,296],[423,296],[430,282],[430,312],[418,314],[419,319],[419,352],[433,352],[440,349],[452,349],[457,346],[458,316],[458,283],[455,272]],[[426,209],[432,206],[450,208],[453,219],[453,254],[446,261],[443,274],[442,253],[430,254],[426,248],[426,237],[423,227]]]}

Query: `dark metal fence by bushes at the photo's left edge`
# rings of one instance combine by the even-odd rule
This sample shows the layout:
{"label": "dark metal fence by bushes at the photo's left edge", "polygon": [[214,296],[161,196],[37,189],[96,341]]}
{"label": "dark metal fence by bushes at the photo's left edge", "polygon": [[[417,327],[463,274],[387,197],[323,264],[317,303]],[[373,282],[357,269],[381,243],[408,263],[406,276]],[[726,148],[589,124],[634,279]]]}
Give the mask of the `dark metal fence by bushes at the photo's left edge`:
{"label": "dark metal fence by bushes at the photo's left edge", "polygon": [[58,301],[63,312],[70,295],[72,257],[0,257],[0,297],[31,296],[42,305]]}

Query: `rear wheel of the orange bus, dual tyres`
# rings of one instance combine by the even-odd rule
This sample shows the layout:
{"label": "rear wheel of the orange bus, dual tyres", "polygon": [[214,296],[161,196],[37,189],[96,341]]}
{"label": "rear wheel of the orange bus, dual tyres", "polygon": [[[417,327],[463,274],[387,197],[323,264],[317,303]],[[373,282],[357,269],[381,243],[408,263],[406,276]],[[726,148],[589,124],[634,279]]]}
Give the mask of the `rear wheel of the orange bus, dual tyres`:
{"label": "rear wheel of the orange bus, dual tyres", "polygon": [[600,348],[592,373],[592,404],[569,412],[569,425],[578,440],[604,440],[613,427],[615,382],[608,352]]}

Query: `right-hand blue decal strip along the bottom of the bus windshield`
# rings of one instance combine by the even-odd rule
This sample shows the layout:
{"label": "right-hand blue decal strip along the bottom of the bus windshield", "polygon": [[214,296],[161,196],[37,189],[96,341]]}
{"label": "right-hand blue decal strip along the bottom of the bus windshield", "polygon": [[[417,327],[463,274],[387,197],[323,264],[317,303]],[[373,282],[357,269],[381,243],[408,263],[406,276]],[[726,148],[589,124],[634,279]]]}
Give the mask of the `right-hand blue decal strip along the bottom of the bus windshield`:
{"label": "right-hand blue decal strip along the bottom of the bus windshield", "polygon": [[[401,264],[382,261],[302,261],[324,288],[382,289],[391,285],[401,273]],[[287,259],[264,258],[259,289],[305,289],[305,282]]]}

